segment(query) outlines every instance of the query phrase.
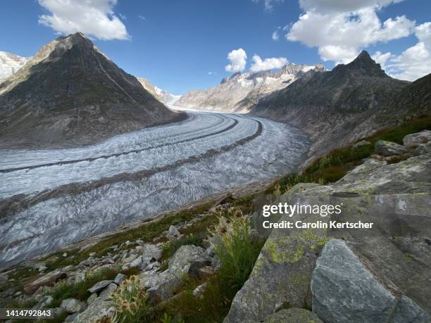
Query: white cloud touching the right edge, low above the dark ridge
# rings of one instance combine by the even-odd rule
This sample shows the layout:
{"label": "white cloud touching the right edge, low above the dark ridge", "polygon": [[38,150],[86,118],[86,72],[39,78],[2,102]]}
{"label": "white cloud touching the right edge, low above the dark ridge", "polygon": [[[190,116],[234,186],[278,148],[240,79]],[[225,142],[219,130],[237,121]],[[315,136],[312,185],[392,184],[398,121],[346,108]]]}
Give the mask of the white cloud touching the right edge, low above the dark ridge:
{"label": "white cloud touching the right edge, low above the dark ridge", "polygon": [[415,34],[419,41],[416,45],[389,59],[387,67],[392,77],[414,81],[431,73],[431,22],[418,25]]}

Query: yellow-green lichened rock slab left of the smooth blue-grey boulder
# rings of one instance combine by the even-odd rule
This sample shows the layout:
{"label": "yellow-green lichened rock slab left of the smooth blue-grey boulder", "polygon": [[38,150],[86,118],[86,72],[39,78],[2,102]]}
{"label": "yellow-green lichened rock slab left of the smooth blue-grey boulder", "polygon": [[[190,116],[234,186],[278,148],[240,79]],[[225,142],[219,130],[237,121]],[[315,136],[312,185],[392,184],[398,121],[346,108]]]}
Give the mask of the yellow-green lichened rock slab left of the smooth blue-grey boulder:
{"label": "yellow-green lichened rock slab left of the smooth blue-grey boulder", "polygon": [[[306,194],[314,189],[313,194]],[[329,186],[298,184],[276,203],[290,205],[327,205]],[[276,204],[274,203],[274,204]],[[327,222],[318,214],[294,213],[296,220]],[[290,220],[288,215],[280,220]],[[318,252],[326,242],[325,229],[273,230],[258,255],[249,279],[232,301],[225,323],[261,322],[268,315],[286,307],[311,305],[310,281]]]}

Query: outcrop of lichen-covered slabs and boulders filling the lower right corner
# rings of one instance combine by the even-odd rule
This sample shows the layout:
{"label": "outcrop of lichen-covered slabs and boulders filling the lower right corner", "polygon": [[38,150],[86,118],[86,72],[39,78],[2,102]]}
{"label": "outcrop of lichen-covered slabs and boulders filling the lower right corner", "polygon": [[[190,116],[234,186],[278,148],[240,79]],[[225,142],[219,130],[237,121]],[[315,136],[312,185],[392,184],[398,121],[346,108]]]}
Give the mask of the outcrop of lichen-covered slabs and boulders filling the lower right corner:
{"label": "outcrop of lichen-covered slabs and boulders filling the lower right corner", "polygon": [[[381,155],[335,184],[297,184],[280,196],[273,204],[342,205],[337,217],[296,212],[280,221],[375,225],[273,229],[225,323],[262,322],[282,308],[312,308],[327,323],[430,322],[430,143],[431,131],[404,137],[407,146],[377,142]],[[411,158],[388,164],[406,151]]]}

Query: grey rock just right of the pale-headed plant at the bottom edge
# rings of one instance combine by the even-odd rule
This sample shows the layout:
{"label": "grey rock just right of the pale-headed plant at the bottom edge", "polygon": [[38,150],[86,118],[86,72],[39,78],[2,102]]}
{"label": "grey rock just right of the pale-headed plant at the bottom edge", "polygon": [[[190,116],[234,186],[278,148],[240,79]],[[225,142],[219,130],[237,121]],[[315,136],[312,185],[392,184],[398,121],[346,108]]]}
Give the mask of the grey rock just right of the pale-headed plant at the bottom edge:
{"label": "grey rock just right of the pale-headed plant at the bottom edge", "polygon": [[170,298],[180,284],[181,280],[170,270],[160,273],[144,272],[144,274],[141,274],[142,288],[147,289],[149,298],[154,303]]}

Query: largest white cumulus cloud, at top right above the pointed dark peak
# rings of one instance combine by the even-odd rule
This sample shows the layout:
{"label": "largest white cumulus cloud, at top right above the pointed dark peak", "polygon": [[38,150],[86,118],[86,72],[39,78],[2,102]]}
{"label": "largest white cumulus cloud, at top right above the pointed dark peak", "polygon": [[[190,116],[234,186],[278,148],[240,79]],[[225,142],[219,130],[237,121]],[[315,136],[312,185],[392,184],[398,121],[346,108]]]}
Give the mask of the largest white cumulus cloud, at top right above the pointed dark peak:
{"label": "largest white cumulus cloud, at top right above the pointed dark peak", "polygon": [[382,22],[377,11],[399,0],[300,0],[299,16],[286,39],[318,47],[324,61],[349,63],[361,48],[407,37],[415,22],[405,15]]}

